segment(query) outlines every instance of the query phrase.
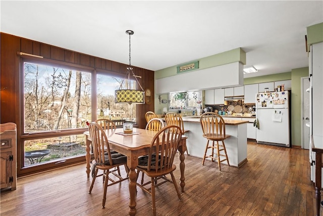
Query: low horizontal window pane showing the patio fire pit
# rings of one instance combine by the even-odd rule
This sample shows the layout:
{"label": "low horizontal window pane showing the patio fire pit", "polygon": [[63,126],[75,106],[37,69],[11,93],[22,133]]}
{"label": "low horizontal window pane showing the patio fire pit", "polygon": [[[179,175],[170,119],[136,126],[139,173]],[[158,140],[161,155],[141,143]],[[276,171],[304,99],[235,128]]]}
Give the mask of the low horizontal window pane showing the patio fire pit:
{"label": "low horizontal window pane showing the patio fire pit", "polygon": [[62,160],[77,155],[84,155],[86,153],[85,136],[83,134],[28,140],[24,142],[24,146],[24,166],[53,160]]}

